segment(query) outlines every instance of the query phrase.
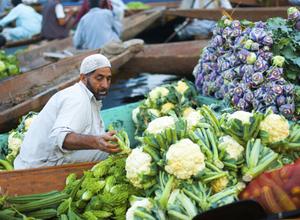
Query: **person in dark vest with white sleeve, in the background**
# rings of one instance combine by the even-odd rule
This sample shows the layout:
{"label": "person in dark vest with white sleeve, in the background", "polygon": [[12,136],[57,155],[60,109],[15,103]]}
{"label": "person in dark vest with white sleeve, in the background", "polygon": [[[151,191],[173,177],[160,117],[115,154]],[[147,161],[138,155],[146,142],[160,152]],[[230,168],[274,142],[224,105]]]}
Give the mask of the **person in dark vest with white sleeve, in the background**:
{"label": "person in dark vest with white sleeve, in the background", "polygon": [[73,10],[67,15],[57,0],[48,0],[43,7],[42,37],[47,40],[62,39],[69,35],[68,23],[72,22]]}

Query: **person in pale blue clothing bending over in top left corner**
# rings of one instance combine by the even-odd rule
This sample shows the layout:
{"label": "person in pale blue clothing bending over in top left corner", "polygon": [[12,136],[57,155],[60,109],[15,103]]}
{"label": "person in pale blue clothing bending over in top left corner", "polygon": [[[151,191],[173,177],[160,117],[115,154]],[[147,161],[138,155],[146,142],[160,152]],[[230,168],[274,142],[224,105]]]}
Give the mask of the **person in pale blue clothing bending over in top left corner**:
{"label": "person in pale blue clothing bending over in top left corner", "polygon": [[[4,28],[12,22],[16,27],[5,27],[2,35],[7,41],[19,41],[32,38],[40,34],[42,28],[42,16],[32,7],[22,3],[22,0],[11,0],[14,8],[0,20],[0,26]],[[2,46],[2,45],[1,45]]]}

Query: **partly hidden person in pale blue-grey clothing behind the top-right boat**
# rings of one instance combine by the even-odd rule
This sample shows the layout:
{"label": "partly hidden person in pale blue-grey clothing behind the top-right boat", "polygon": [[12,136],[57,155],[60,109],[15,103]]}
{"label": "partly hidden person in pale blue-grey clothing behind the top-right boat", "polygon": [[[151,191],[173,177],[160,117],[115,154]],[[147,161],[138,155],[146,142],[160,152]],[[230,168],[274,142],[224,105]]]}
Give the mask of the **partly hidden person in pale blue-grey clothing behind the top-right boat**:
{"label": "partly hidden person in pale blue-grey clothing behind the top-right boat", "polygon": [[[194,9],[215,9],[215,8],[225,8],[231,9],[232,6],[229,0],[195,0],[193,4]],[[188,39],[194,36],[204,36],[208,37],[208,35],[212,32],[212,29],[215,27],[216,21],[212,20],[199,20],[193,19],[192,22],[187,25],[182,30],[177,32],[178,37],[180,39]]]}

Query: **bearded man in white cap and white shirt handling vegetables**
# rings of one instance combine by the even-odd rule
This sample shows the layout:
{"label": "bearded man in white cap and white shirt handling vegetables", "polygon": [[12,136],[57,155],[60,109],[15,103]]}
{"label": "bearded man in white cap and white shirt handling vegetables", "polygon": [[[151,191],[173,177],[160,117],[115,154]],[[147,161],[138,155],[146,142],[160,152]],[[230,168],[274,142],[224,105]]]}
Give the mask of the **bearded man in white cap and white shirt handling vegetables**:
{"label": "bearded man in white cap and white shirt handling vegetables", "polygon": [[111,83],[109,60],[94,54],[80,66],[80,81],[56,93],[27,131],[16,169],[99,161],[119,152],[115,132],[104,133],[101,100]]}

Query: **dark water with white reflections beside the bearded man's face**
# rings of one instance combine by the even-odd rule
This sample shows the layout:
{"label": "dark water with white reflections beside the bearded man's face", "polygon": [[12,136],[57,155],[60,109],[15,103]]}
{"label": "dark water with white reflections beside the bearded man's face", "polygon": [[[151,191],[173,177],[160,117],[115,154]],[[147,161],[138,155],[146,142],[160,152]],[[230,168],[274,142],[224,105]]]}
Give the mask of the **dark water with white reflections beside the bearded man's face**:
{"label": "dark water with white reflections beside the bearded man's face", "polygon": [[181,77],[166,74],[141,73],[137,75],[118,74],[114,76],[108,96],[103,101],[103,109],[142,100],[149,90]]}

